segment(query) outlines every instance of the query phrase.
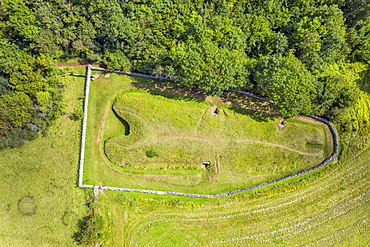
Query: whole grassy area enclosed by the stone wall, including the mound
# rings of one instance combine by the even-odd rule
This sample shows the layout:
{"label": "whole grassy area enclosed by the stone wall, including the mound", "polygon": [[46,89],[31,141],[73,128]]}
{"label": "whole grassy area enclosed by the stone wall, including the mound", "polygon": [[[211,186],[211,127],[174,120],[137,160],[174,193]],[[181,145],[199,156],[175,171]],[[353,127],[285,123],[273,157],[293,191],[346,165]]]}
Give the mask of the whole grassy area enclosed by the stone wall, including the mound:
{"label": "whole grassy area enclosed by the stone wall, including the mound", "polygon": [[[133,88],[159,81],[112,74],[92,82],[84,183],[214,194],[269,181],[328,156],[322,125]],[[248,113],[248,114],[246,114]],[[330,149],[330,147],[329,147]],[[202,162],[210,162],[204,169]]]}

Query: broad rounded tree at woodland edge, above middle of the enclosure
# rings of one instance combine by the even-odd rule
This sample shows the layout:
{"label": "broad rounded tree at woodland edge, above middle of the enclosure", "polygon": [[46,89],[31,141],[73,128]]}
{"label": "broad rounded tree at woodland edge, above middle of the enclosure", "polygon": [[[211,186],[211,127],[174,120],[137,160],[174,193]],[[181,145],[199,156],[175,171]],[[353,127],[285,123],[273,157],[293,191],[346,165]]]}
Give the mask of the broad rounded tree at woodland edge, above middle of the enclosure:
{"label": "broad rounded tree at woodland edge, above middle of the enclosure", "polygon": [[218,47],[211,41],[179,43],[170,52],[182,86],[220,95],[247,84],[251,60],[245,53]]}

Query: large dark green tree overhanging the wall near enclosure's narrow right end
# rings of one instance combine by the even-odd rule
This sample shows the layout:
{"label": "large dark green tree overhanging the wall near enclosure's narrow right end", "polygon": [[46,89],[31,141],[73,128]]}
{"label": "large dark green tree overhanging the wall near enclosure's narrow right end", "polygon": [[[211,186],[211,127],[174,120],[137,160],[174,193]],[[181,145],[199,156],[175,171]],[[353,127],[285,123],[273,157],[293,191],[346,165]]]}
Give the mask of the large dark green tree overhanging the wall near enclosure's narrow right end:
{"label": "large dark green tree overhanging the wall near enclosure's narrow right end", "polygon": [[315,78],[293,54],[261,58],[254,80],[257,90],[273,100],[275,109],[284,117],[312,113]]}

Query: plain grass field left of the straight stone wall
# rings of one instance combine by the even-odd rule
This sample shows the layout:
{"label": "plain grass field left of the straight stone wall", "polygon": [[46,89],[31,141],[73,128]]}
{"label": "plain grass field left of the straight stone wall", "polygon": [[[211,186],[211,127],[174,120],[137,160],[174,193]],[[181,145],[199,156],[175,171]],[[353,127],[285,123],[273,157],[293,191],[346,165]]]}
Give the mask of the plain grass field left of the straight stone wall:
{"label": "plain grass field left of the straight stone wall", "polygon": [[0,246],[76,245],[72,236],[86,209],[76,188],[81,123],[70,116],[82,107],[84,80],[61,80],[66,114],[48,136],[0,151]]}

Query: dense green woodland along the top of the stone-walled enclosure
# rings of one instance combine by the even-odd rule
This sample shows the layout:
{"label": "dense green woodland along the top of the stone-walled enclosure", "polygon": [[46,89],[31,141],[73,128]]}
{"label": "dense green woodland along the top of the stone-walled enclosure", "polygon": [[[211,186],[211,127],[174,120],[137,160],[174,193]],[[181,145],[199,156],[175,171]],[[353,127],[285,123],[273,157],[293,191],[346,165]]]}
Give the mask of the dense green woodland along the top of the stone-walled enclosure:
{"label": "dense green woodland along the top of the stone-walled enclosure", "polygon": [[367,0],[2,0],[0,19],[0,148],[63,114],[56,61],[247,90],[370,133]]}

